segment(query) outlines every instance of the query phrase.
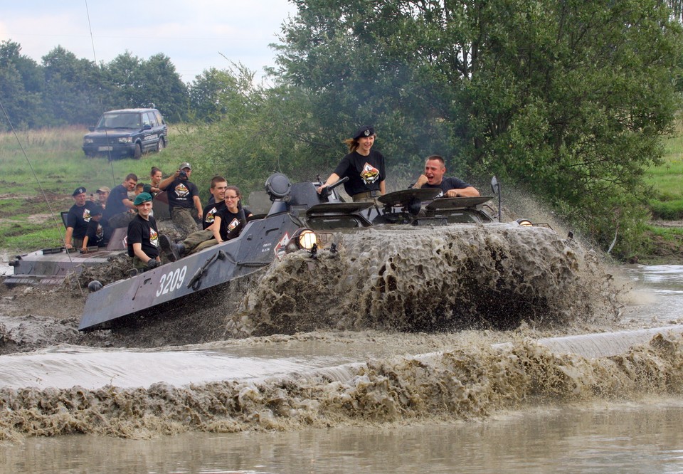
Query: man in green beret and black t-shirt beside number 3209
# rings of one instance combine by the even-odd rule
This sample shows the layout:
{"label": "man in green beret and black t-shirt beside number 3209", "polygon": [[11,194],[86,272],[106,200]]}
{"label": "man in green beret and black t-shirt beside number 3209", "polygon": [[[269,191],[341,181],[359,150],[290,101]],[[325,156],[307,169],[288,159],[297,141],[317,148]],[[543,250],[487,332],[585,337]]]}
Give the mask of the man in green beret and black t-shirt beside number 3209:
{"label": "man in green beret and black t-shirt beside number 3209", "polygon": [[137,215],[128,223],[128,256],[134,268],[149,270],[161,264],[159,258],[159,231],[152,213],[152,194],[140,193],[133,205]]}

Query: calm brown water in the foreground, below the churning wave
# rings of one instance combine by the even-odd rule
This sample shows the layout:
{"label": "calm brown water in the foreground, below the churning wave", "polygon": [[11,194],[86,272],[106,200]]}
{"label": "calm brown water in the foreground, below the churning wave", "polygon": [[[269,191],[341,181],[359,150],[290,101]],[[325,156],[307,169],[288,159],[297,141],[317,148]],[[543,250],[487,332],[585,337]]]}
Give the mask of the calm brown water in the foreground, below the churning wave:
{"label": "calm brown water in the foreground, below the churning wave", "polygon": [[2,473],[680,473],[683,401],[544,406],[485,421],[152,440],[29,438]]}

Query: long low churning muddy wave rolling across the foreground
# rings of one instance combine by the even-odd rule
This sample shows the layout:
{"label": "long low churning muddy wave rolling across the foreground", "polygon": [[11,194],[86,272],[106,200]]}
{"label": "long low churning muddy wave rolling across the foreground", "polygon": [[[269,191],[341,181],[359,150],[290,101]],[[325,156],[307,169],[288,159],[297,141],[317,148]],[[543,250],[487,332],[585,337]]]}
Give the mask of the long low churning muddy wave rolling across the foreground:
{"label": "long low churning muddy wave rolling across the foreground", "polygon": [[679,335],[657,335],[625,354],[596,359],[556,354],[529,339],[504,347],[482,340],[430,357],[376,359],[258,382],[0,389],[0,439],[68,433],[147,438],[430,416],[452,421],[529,406],[682,391]]}

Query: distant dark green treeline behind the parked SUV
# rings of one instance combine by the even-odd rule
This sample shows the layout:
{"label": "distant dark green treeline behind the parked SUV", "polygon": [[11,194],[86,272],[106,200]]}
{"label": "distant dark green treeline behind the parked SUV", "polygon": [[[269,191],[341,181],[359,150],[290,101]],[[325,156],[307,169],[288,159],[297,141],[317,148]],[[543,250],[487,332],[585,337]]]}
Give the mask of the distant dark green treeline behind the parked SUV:
{"label": "distant dark green treeline behind the parked SUV", "polygon": [[[162,53],[145,60],[127,51],[97,64],[57,46],[38,64],[19,43],[0,42],[0,103],[20,129],[93,125],[103,111],[124,107],[157,107],[169,122],[194,120],[202,110],[208,120],[206,93],[195,88],[206,90],[202,76],[186,85]],[[9,126],[0,114],[0,130]]]}

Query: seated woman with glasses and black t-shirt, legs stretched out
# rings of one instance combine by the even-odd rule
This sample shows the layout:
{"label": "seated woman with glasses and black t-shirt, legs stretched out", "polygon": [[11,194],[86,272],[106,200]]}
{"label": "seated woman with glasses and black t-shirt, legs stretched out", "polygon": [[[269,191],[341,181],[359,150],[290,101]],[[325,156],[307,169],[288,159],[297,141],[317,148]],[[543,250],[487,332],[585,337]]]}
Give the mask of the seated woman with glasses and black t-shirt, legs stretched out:
{"label": "seated woman with glasses and black t-shirt, legs stretched out", "polygon": [[240,204],[242,194],[237,186],[227,186],[225,206],[213,216],[213,224],[203,231],[191,233],[184,241],[174,243],[167,236],[160,236],[159,243],[166,257],[174,262],[179,258],[223,243],[240,235],[240,231],[251,216],[249,209]]}

